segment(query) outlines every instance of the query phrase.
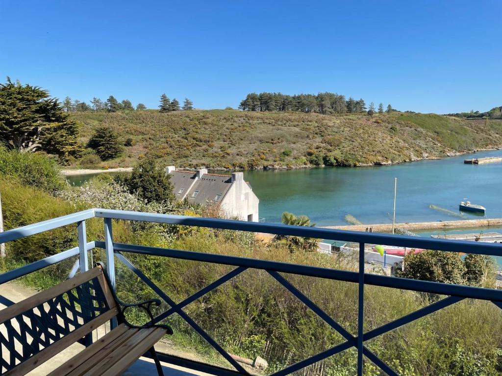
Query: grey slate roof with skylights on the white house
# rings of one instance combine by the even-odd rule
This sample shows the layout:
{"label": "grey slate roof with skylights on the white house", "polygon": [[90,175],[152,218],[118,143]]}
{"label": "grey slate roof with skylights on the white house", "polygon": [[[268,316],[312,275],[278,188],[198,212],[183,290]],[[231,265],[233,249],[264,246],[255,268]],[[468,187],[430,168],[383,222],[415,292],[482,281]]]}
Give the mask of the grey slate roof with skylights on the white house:
{"label": "grey slate roof with skylights on the white house", "polygon": [[[174,186],[174,194],[178,200],[183,196],[189,202],[206,204],[220,202],[232,186],[231,176],[205,173],[194,183],[196,173],[192,171],[175,170],[171,172],[171,181]],[[190,187],[190,185],[192,185]],[[220,195],[218,201],[216,196]],[[194,197],[195,196],[195,197]]]}

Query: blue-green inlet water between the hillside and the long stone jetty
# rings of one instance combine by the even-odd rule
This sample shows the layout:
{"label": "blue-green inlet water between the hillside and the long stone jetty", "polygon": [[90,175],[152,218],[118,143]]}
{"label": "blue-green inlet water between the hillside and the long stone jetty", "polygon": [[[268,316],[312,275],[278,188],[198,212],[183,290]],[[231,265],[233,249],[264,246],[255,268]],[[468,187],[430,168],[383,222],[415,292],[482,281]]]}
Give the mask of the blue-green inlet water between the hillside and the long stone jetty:
{"label": "blue-green inlet water between the hillside and the long stone jetty", "polygon": [[[245,171],[244,178],[260,199],[260,217],[267,222],[280,222],[288,211],[307,215],[318,226],[347,224],[347,214],[364,224],[391,223],[395,177],[397,223],[502,218],[502,163],[463,163],[492,155],[502,151],[391,166]],[[465,198],[484,206],[486,215],[461,214],[458,204]]]}

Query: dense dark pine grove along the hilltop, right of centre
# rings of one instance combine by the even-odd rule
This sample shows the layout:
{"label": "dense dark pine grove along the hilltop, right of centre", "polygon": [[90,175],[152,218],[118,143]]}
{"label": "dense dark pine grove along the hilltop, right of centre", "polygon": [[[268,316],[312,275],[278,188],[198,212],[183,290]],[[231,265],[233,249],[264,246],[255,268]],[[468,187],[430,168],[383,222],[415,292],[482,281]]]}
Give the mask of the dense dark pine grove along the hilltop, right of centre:
{"label": "dense dark pine grove along the hilltop, right of centre", "polygon": [[[356,100],[352,97],[345,99],[344,95],[336,93],[297,94],[287,95],[282,93],[260,94],[249,93],[240,102],[239,108],[244,111],[298,111],[318,112],[322,114],[343,114],[346,112],[375,113],[374,103],[366,107],[364,99]],[[387,112],[395,111],[389,104]],[[384,112],[384,104],[380,103],[378,112]]]}

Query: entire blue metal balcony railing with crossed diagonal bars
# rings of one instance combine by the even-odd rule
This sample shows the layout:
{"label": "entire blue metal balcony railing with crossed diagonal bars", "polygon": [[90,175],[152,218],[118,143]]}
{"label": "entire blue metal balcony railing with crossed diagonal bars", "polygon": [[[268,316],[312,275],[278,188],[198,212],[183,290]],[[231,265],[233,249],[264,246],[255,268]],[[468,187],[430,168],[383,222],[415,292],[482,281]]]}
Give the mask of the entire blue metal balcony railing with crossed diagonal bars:
{"label": "entire blue metal balcony railing with crossed diagonal bars", "polygon": [[[104,219],[104,241],[95,240],[92,242],[87,242],[85,234],[85,221],[94,217]],[[163,223],[172,225],[197,226],[197,227],[207,227],[215,229],[251,231],[251,232],[279,234],[279,235],[293,235],[293,236],[303,236],[303,237],[358,243],[359,269],[358,272],[352,272],[352,271],[327,269],[321,267],[289,264],[275,261],[249,259],[236,256],[216,255],[216,254],[207,254],[199,252],[181,251],[176,249],[114,243],[112,237],[113,219],[154,222],[154,223]],[[186,307],[191,302],[195,301],[196,299],[200,298],[201,296],[214,290],[215,288],[225,283],[226,281],[239,275],[248,268],[265,270],[270,276],[272,276],[282,286],[284,286],[287,290],[293,293],[300,301],[302,301],[307,307],[309,307],[315,314],[317,314],[321,319],[323,319],[328,325],[330,325],[345,339],[344,342],[337,344],[336,346],[333,346],[325,351],[310,356],[305,360],[289,365],[286,368],[273,373],[273,376],[286,376],[287,374],[298,371],[304,367],[314,364],[315,362],[323,360],[329,356],[337,354],[351,347],[357,349],[358,375],[362,374],[363,355],[365,355],[369,360],[378,365],[387,374],[391,376],[397,375],[397,373],[389,365],[387,365],[384,361],[382,361],[378,356],[376,356],[372,351],[370,351],[364,345],[365,341],[368,341],[372,338],[380,336],[391,330],[399,328],[400,326],[403,326],[407,323],[410,323],[414,320],[424,317],[430,313],[436,312],[451,304],[457,303],[465,298],[489,300],[499,308],[502,308],[502,290],[494,290],[494,289],[463,286],[463,285],[453,285],[453,284],[445,284],[438,282],[427,282],[427,281],[364,273],[365,244],[385,244],[385,245],[401,246],[408,248],[434,249],[448,252],[463,252],[463,253],[481,254],[490,256],[502,255],[502,244],[495,244],[495,243],[475,243],[475,242],[458,241],[458,240],[418,238],[418,237],[408,237],[402,235],[386,235],[378,233],[322,229],[315,227],[313,228],[313,227],[286,226],[286,225],[270,224],[270,223],[231,221],[231,220],[221,220],[212,218],[185,217],[185,216],[126,212],[126,211],[104,210],[104,209],[91,209],[79,213],[74,213],[68,216],[55,218],[53,220],[40,222],[34,225],[29,225],[18,229],[9,230],[4,233],[0,233],[0,243],[14,241],[17,239],[24,238],[26,236],[38,234],[44,231],[53,230],[55,228],[71,224],[77,224],[78,247],[61,252],[57,255],[49,256],[43,260],[36,261],[21,268],[6,272],[0,275],[0,284],[9,282],[23,275],[32,273],[46,266],[56,264],[58,262],[67,260],[77,255],[79,256],[79,259],[75,264],[70,275],[73,275],[76,272],[77,268],[80,268],[80,271],[83,272],[89,268],[87,252],[93,248],[102,248],[105,250],[105,255],[106,255],[106,271],[114,288],[115,288],[114,256],[116,256],[121,262],[127,265],[142,281],[144,281],[150,288],[152,288],[152,290],[154,290],[167,304],[169,304],[170,308],[167,311],[155,317],[154,322],[159,322],[169,317],[170,315],[177,313],[190,326],[192,326],[192,328],[195,331],[197,331],[205,340],[207,340],[207,342],[210,345],[212,345],[226,360],[228,360],[228,362],[232,364],[237,371],[230,371],[224,368],[209,366],[206,364],[194,362],[187,359],[176,358],[166,354],[158,354],[161,360],[164,359],[171,363],[175,363],[178,365],[186,366],[201,371],[208,371],[215,374],[248,375],[249,373],[237,361],[235,361],[232,358],[232,356],[228,354],[213,338],[211,338],[209,334],[207,334],[195,321],[193,321],[184,312],[183,308]],[[189,296],[185,300],[176,303],[161,288],[159,288],[145,274],[143,274],[138,268],[136,268],[136,266],[133,265],[133,263],[131,263],[131,261],[128,260],[121,252],[163,256],[163,257],[178,258],[178,259],[193,260],[193,261],[203,261],[203,262],[217,263],[223,265],[231,265],[234,266],[235,268],[231,270],[229,273],[217,279],[216,281],[210,283],[208,286],[197,291],[195,294]],[[312,302],[309,298],[307,298],[302,292],[300,292],[295,286],[293,286],[279,273],[291,273],[303,276],[311,276],[311,277],[357,283],[358,284],[357,336],[353,336],[352,334],[350,334],[346,329],[344,329],[340,324],[338,324],[334,319],[332,319],[327,313],[325,313],[321,308],[319,308],[314,302]],[[439,300],[433,304],[430,304],[429,306],[421,308],[415,312],[412,312],[406,316],[403,316],[387,324],[384,324],[378,328],[364,332],[363,309],[364,309],[365,285],[391,287],[405,290],[434,293],[440,295],[448,295],[448,297]],[[7,304],[12,303],[6,300],[3,300],[3,302]]]}

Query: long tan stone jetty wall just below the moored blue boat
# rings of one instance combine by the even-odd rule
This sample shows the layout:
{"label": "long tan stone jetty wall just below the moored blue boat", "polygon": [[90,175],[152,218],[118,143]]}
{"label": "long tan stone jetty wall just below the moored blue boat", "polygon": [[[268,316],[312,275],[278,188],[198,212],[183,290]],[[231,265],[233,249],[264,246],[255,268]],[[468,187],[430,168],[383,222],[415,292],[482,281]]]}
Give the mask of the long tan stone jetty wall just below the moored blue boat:
{"label": "long tan stone jetty wall just below the moored blue boat", "polygon": [[[442,229],[462,229],[469,227],[502,227],[502,218],[477,219],[463,221],[437,221],[437,222],[415,222],[396,223],[396,228],[404,230],[442,230]],[[351,225],[351,226],[324,226],[326,229],[348,230],[348,231],[372,231],[372,232],[392,232],[392,223],[376,225]]]}

